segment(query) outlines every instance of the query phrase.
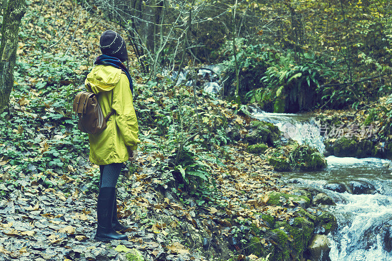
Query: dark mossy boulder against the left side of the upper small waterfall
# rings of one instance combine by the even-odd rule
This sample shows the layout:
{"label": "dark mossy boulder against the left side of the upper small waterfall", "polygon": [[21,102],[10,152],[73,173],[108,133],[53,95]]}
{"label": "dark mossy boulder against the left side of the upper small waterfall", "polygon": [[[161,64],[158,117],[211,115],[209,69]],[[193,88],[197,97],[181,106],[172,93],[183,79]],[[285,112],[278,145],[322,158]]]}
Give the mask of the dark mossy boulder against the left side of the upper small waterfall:
{"label": "dark mossy boulder against the left side of the upper small waterfall", "polygon": [[267,143],[273,146],[280,139],[280,130],[270,122],[254,120],[245,139],[249,144]]}

